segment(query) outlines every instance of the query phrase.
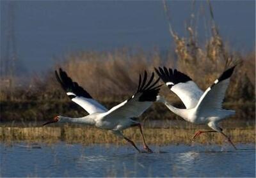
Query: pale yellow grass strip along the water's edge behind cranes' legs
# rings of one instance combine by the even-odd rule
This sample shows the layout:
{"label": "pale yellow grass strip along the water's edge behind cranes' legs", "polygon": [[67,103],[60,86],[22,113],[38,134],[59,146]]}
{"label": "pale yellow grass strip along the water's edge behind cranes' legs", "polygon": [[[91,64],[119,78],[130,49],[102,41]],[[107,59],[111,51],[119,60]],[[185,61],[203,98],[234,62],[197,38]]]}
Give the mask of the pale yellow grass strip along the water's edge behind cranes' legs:
{"label": "pale yellow grass strip along the water's edge behind cranes' legs", "polygon": [[[191,144],[195,129],[179,128],[145,128],[144,134],[148,144]],[[255,143],[255,127],[236,128],[224,130],[232,138],[234,143]],[[141,144],[140,130],[130,128],[124,131],[124,135],[136,143]],[[1,142],[58,142],[81,144],[126,144],[126,142],[108,131],[97,128],[73,128],[63,127],[0,127]],[[195,142],[201,144],[223,144],[225,139],[220,133],[202,134]]]}

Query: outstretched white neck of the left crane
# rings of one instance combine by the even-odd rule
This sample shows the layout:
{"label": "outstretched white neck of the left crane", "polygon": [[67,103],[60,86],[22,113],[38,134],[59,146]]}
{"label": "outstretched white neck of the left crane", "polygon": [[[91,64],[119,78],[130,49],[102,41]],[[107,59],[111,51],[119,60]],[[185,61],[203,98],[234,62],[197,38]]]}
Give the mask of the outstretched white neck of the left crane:
{"label": "outstretched white neck of the left crane", "polygon": [[74,124],[86,124],[86,125],[95,125],[95,120],[87,116],[85,117],[64,117],[60,116],[60,123],[74,123]]}

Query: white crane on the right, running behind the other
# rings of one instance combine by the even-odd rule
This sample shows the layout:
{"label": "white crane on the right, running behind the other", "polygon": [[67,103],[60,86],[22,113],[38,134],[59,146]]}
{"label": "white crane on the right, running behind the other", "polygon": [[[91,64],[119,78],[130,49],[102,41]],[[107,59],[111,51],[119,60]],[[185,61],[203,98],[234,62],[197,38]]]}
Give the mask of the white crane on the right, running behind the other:
{"label": "white crane on the right, running behind the other", "polygon": [[224,71],[205,92],[199,89],[188,75],[180,71],[172,70],[171,68],[167,69],[166,67],[159,67],[159,70],[155,68],[157,75],[159,75],[173,93],[179,96],[186,109],[173,107],[162,96],[157,96],[157,101],[164,103],[173,113],[179,115],[186,121],[194,124],[207,124],[212,129],[196,131],[193,139],[198,137],[201,133],[219,132],[227,138],[228,142],[236,149],[236,146],[232,143],[230,138],[227,137],[227,135],[223,133],[222,128],[218,126],[218,122],[222,119],[235,114],[234,110],[224,110],[221,106],[235,67],[236,66],[233,66]]}

